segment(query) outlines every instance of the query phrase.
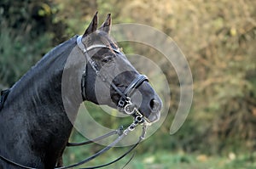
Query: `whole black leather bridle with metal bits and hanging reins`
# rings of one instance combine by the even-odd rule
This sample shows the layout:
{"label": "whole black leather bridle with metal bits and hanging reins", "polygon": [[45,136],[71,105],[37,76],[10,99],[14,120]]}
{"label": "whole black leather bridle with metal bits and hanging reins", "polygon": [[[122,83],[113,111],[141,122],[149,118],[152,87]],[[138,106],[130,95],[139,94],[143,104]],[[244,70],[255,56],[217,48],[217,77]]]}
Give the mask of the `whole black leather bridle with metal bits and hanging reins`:
{"label": "whole black leather bridle with metal bits and hanging reins", "polygon": [[[148,119],[143,116],[141,114],[141,112],[137,109],[137,106],[135,104],[133,104],[131,102],[131,98],[130,98],[130,95],[132,94],[133,90],[137,87],[139,87],[140,85],[143,84],[144,81],[148,81],[148,77],[147,76],[144,76],[144,75],[139,75],[137,76],[137,78],[135,78],[131,84],[125,88],[125,91],[122,92],[119,90],[119,88],[113,84],[113,82],[110,82],[108,80],[108,78],[106,78],[105,76],[102,76],[100,74],[100,71],[98,70],[97,66],[96,66],[96,62],[90,58],[88,52],[94,48],[109,48],[108,46],[106,45],[92,45],[88,48],[85,48],[84,46],[84,43],[82,42],[82,36],[79,36],[77,38],[77,45],[79,46],[79,48],[82,50],[84,56],[85,56],[85,59],[86,61],[90,64],[90,66],[92,67],[92,69],[95,71],[96,73],[96,76],[99,76],[101,79],[102,79],[102,82],[106,82],[108,83],[108,85],[110,85],[111,87],[113,87],[113,89],[119,93],[120,95],[120,99],[119,99],[119,102],[117,104],[117,107],[120,111],[124,112],[125,114],[127,115],[132,115],[134,117],[134,121],[131,123],[131,125],[129,127],[127,127],[125,130],[123,129],[123,127],[119,127],[119,129],[117,130],[114,130],[114,131],[111,131],[111,132],[108,132],[98,138],[95,138],[95,139],[92,139],[92,140],[89,140],[89,141],[85,141],[85,142],[82,142],[82,143],[67,143],[67,146],[70,147],[70,146],[80,146],[80,145],[84,145],[84,144],[91,144],[91,143],[94,143],[98,140],[102,140],[103,138],[108,138],[109,136],[112,136],[114,134],[117,134],[119,137],[116,138],[113,143],[111,144],[108,144],[107,147],[105,147],[104,149],[98,151],[95,155],[91,155],[90,157],[84,159],[84,161],[80,161],[76,164],[73,164],[73,165],[70,165],[70,166],[61,166],[61,167],[56,167],[55,169],[67,169],[67,168],[72,168],[72,167],[75,167],[75,166],[81,166],[83,165],[84,163],[88,162],[88,161],[91,161],[93,159],[95,159],[97,156],[99,155],[102,155],[104,152],[108,151],[108,149],[111,149],[113,148],[113,146],[115,146],[116,144],[118,144],[123,138],[125,138],[125,136],[128,135],[129,132],[132,132],[139,124],[143,125],[143,131],[142,131],[142,134],[141,136],[138,138],[137,140],[137,143],[136,144],[133,144],[131,146],[130,149],[128,149],[123,155],[119,156],[119,158],[117,158],[116,160],[114,161],[110,161],[108,162],[107,164],[103,164],[101,166],[91,166],[91,167],[85,167],[84,169],[89,169],[89,168],[100,168],[100,167],[103,167],[103,166],[109,166],[111,164],[113,164],[114,162],[116,161],[119,161],[121,160],[122,158],[125,157],[125,155],[128,155],[129,153],[131,153],[131,151],[133,149],[135,149],[137,147],[137,145],[144,139],[145,137],[145,134],[146,134],[146,130],[147,130],[147,121]],[[111,48],[115,53],[117,54],[122,54],[119,49],[116,49],[116,48]],[[86,64],[85,64],[86,66]],[[86,67],[84,68],[84,72],[83,72],[83,75],[82,75],[82,80],[81,80],[81,91],[82,91],[82,97],[83,99],[86,99],[86,92],[85,92],[85,82],[86,82]],[[150,122],[150,121],[148,121]],[[133,156],[132,156],[133,157]],[[132,158],[131,157],[131,158]],[[3,155],[0,155],[0,159],[13,165],[13,166],[19,166],[21,168],[25,168],[25,169],[37,169],[37,168],[34,168],[34,167],[30,167],[30,166],[23,166],[19,163],[16,163],[15,161],[11,161],[9,160],[8,158],[5,158]],[[131,159],[130,159],[131,161]],[[128,162],[130,162],[128,161]],[[127,164],[127,163],[126,163]]]}

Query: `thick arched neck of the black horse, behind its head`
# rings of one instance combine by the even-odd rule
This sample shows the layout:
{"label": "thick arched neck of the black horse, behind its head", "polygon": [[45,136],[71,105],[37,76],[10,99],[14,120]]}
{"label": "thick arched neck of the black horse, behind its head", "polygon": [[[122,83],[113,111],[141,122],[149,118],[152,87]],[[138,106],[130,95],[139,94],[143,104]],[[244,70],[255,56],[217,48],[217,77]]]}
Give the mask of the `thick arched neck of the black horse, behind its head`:
{"label": "thick arched neck of the black horse, behind its head", "polygon": [[[46,164],[54,164],[56,158],[66,147],[67,139],[73,128],[70,119],[74,121],[82,101],[79,101],[80,93],[75,93],[72,89],[78,87],[80,81],[78,72],[82,73],[82,64],[73,65],[72,70],[75,70],[78,75],[71,76],[70,82],[66,84],[67,88],[71,88],[70,90],[63,91],[61,82],[69,56],[81,57],[81,55],[72,54],[73,51],[79,53],[75,40],[73,38],[54,48],[19,82],[16,82],[11,88],[4,107],[3,115],[5,117],[10,115],[19,119],[20,122],[20,124],[15,124],[15,120],[10,120],[5,123],[6,126],[12,126],[10,128],[15,131],[19,131],[19,127],[22,127],[21,129],[25,131],[25,138],[18,142],[24,141],[26,146],[31,145],[28,149],[35,154],[48,158],[42,160],[46,161]],[[67,69],[71,69],[71,67],[69,66]],[[62,96],[63,92],[65,93],[64,97]],[[78,97],[74,97],[77,95]],[[67,111],[73,113],[69,118]],[[29,138],[26,138],[27,136]],[[19,143],[14,144],[17,144],[17,147],[12,149],[19,149]],[[26,149],[24,151],[26,152]],[[21,149],[20,152],[22,152]]]}

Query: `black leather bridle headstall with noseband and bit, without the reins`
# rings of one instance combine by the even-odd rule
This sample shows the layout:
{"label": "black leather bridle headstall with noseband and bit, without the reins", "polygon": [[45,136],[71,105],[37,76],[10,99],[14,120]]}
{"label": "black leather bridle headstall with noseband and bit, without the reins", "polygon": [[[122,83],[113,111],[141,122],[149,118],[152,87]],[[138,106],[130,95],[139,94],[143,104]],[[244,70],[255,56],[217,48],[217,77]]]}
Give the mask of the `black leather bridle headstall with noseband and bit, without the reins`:
{"label": "black leather bridle headstall with noseband and bit, without the reins", "polygon": [[[113,87],[113,89],[117,93],[119,93],[120,99],[117,104],[118,110],[121,112],[124,112],[127,115],[133,115],[135,118],[138,118],[138,120],[140,120],[141,122],[144,122],[145,120],[148,121],[148,119],[140,113],[140,111],[137,109],[136,105],[131,102],[131,98],[130,98],[130,96],[135,88],[141,86],[144,81],[148,82],[148,77],[145,75],[137,76],[137,78],[135,78],[129,84],[129,86],[125,88],[125,91],[122,92],[119,90],[119,88],[113,82],[110,82],[108,80],[108,78],[106,78],[105,76],[102,76],[102,74],[100,74],[100,70],[97,69],[96,62],[93,59],[91,59],[90,55],[88,54],[88,52],[94,48],[109,48],[109,47],[106,45],[102,45],[102,44],[96,44],[96,45],[91,45],[88,48],[85,48],[84,43],[82,42],[82,36],[79,36],[77,38],[77,44],[78,44],[79,48],[82,50],[82,52],[84,53],[86,61],[88,63],[90,63],[90,66],[96,72],[96,76],[99,76],[102,79],[102,82],[108,83],[108,85]],[[120,52],[120,50],[118,48],[111,48],[111,50],[113,50],[117,54],[123,54]],[[86,64],[85,64],[85,66],[86,66]],[[83,73],[82,82],[81,82],[81,90],[82,90],[83,99],[86,99],[85,82],[86,82],[86,68],[84,68],[84,73]],[[148,121],[148,122],[150,122],[150,121]]]}

